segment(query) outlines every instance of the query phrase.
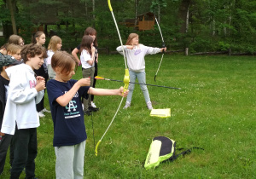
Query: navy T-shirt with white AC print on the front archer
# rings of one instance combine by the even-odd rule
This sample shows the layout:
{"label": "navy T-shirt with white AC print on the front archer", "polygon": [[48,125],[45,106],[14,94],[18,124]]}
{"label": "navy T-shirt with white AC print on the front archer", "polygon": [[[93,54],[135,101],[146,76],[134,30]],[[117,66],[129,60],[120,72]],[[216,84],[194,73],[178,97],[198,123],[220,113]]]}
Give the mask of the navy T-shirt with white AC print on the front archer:
{"label": "navy T-shirt with white AC print on the front archer", "polygon": [[71,79],[67,83],[51,79],[47,82],[49,107],[54,123],[54,147],[73,146],[87,139],[84,113],[82,109],[81,96],[88,98],[90,86],[81,87],[69,101],[66,107],[55,101],[72,89],[77,80]]}

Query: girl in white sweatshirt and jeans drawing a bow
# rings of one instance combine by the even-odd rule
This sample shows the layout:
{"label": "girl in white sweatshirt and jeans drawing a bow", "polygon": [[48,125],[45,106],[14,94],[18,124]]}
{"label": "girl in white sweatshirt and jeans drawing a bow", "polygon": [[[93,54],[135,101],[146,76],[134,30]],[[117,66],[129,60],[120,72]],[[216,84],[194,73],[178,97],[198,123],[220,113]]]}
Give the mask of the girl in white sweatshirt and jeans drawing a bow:
{"label": "girl in white sweatshirt and jeans drawing a bow", "polygon": [[[148,94],[148,88],[146,85],[146,72],[145,72],[145,55],[152,55],[166,51],[166,48],[153,48],[144,46],[139,43],[139,36],[137,33],[131,33],[127,39],[126,44],[122,47],[119,46],[116,50],[123,55],[123,48],[125,50],[125,56],[127,58],[127,64],[129,67],[130,82],[135,82],[136,78],[140,83],[141,90],[149,110],[152,110],[152,103]],[[134,90],[134,84],[129,84],[129,94],[127,95],[127,100],[124,109],[131,106],[131,97]]]}

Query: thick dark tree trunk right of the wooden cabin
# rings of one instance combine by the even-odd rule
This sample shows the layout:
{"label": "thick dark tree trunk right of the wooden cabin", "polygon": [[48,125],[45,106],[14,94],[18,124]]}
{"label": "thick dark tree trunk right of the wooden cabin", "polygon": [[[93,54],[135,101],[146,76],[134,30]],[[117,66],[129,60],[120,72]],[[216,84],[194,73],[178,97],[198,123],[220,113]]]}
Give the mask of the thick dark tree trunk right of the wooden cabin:
{"label": "thick dark tree trunk right of the wooden cabin", "polygon": [[180,31],[181,33],[186,32],[186,21],[187,21],[187,14],[189,10],[189,5],[191,3],[191,0],[183,0],[182,3],[180,4],[180,7],[178,9],[178,21],[182,21],[182,24],[180,26]]}

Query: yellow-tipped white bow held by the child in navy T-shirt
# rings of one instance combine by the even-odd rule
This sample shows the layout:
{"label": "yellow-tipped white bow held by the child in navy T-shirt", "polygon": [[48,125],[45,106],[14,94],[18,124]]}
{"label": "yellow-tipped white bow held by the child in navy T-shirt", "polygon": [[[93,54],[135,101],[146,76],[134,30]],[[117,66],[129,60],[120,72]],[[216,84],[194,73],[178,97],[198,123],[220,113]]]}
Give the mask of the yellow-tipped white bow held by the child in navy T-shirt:
{"label": "yellow-tipped white bow held by the child in navy T-shirt", "polygon": [[[122,38],[121,38],[121,36],[120,36],[119,27],[118,27],[118,25],[117,25],[117,23],[116,23],[116,20],[115,20],[114,14],[113,14],[113,9],[112,9],[112,7],[111,7],[110,0],[108,0],[108,8],[109,8],[109,10],[110,10],[110,12],[111,12],[111,14],[112,14],[112,16],[113,16],[113,21],[114,21],[114,24],[115,24],[115,26],[116,26],[116,30],[117,30],[117,32],[118,32],[118,34],[119,34],[119,40],[120,40],[120,43],[121,43],[121,46],[122,46],[122,49],[123,49],[123,55],[124,55],[124,59],[125,59],[125,49],[124,49],[124,46],[123,46]],[[124,84],[125,84],[125,86],[124,86],[124,92],[125,92],[126,90],[128,90],[129,82],[130,82],[129,70],[128,70],[128,68],[127,68],[126,59],[125,59],[125,78],[124,78]],[[95,148],[95,154],[96,154],[96,156],[98,155],[98,147],[99,147],[100,143],[102,142],[103,137],[106,135],[106,133],[107,133],[109,127],[110,127],[111,124],[113,123],[113,119],[116,117],[117,113],[119,112],[119,108],[121,107],[121,104],[122,104],[123,100],[124,100],[124,96],[122,97],[122,100],[121,100],[120,103],[119,103],[119,107],[118,107],[116,113],[113,115],[113,118],[112,118],[110,124],[108,125],[107,130],[104,132],[104,134],[103,134],[102,138],[100,139],[100,141],[98,141],[97,144],[96,144],[96,148]]]}

